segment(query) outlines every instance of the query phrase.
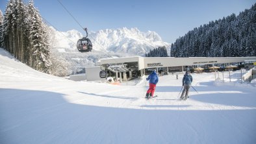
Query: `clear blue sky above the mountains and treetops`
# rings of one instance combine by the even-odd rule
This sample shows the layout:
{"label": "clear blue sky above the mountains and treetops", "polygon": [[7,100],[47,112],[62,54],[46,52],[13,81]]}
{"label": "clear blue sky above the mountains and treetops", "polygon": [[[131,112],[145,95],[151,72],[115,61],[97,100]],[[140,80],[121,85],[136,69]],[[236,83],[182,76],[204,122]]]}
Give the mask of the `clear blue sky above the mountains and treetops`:
{"label": "clear blue sky above the mountains and treetops", "polygon": [[[28,0],[25,0],[27,3]],[[59,0],[89,31],[137,27],[173,43],[186,32],[249,9],[256,0]],[[7,0],[0,0],[4,13]],[[41,16],[61,31],[84,31],[57,0],[34,0]]]}

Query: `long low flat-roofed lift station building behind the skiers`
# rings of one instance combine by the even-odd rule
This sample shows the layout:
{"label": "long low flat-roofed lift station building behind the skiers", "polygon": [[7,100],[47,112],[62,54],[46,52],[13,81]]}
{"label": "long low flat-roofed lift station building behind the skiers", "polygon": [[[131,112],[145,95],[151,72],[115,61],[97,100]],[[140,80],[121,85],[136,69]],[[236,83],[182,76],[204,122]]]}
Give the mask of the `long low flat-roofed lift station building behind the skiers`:
{"label": "long low flat-roofed lift station building behind the skiers", "polygon": [[[183,71],[186,66],[205,67],[209,65],[229,66],[229,64],[244,64],[245,62],[256,62],[256,57],[142,57],[133,56],[125,58],[102,58],[99,62],[101,70],[108,73],[108,77],[123,78],[127,80],[133,77],[147,75],[155,69],[157,72],[174,73]],[[122,80],[121,80],[122,81]]]}

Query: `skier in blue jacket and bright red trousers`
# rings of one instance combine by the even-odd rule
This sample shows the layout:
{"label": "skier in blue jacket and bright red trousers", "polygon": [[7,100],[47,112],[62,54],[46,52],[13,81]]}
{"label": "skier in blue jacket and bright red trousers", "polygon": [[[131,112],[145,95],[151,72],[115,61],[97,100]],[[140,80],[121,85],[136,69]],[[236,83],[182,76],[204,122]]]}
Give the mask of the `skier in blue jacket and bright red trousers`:
{"label": "skier in blue jacket and bright red trousers", "polygon": [[155,87],[157,86],[157,82],[159,82],[159,77],[156,73],[156,71],[152,71],[152,73],[146,78],[146,80],[149,80],[149,89],[147,90],[146,98],[153,97],[155,92]]}

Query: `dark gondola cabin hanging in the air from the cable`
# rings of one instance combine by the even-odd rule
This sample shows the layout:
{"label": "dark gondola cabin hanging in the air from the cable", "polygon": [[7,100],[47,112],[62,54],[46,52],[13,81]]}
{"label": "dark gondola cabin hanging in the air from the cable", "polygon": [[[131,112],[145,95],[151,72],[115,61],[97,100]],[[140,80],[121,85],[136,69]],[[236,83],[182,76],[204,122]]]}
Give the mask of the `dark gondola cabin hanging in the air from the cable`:
{"label": "dark gondola cabin hanging in the air from the cable", "polygon": [[81,38],[77,41],[77,49],[81,53],[92,51],[92,42],[88,38]]}

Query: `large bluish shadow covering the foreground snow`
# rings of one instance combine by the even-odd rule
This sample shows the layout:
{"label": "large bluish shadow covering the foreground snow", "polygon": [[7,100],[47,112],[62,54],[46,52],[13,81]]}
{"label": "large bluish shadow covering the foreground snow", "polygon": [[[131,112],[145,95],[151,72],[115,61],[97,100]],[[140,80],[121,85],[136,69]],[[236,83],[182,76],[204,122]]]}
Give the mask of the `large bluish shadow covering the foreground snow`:
{"label": "large bluish shadow covering the foreground snow", "polygon": [[[66,101],[64,96],[49,91],[0,89],[0,143],[256,141],[256,110],[108,108],[73,104]],[[211,96],[208,98],[211,99]],[[199,96],[193,99],[207,101]]]}

